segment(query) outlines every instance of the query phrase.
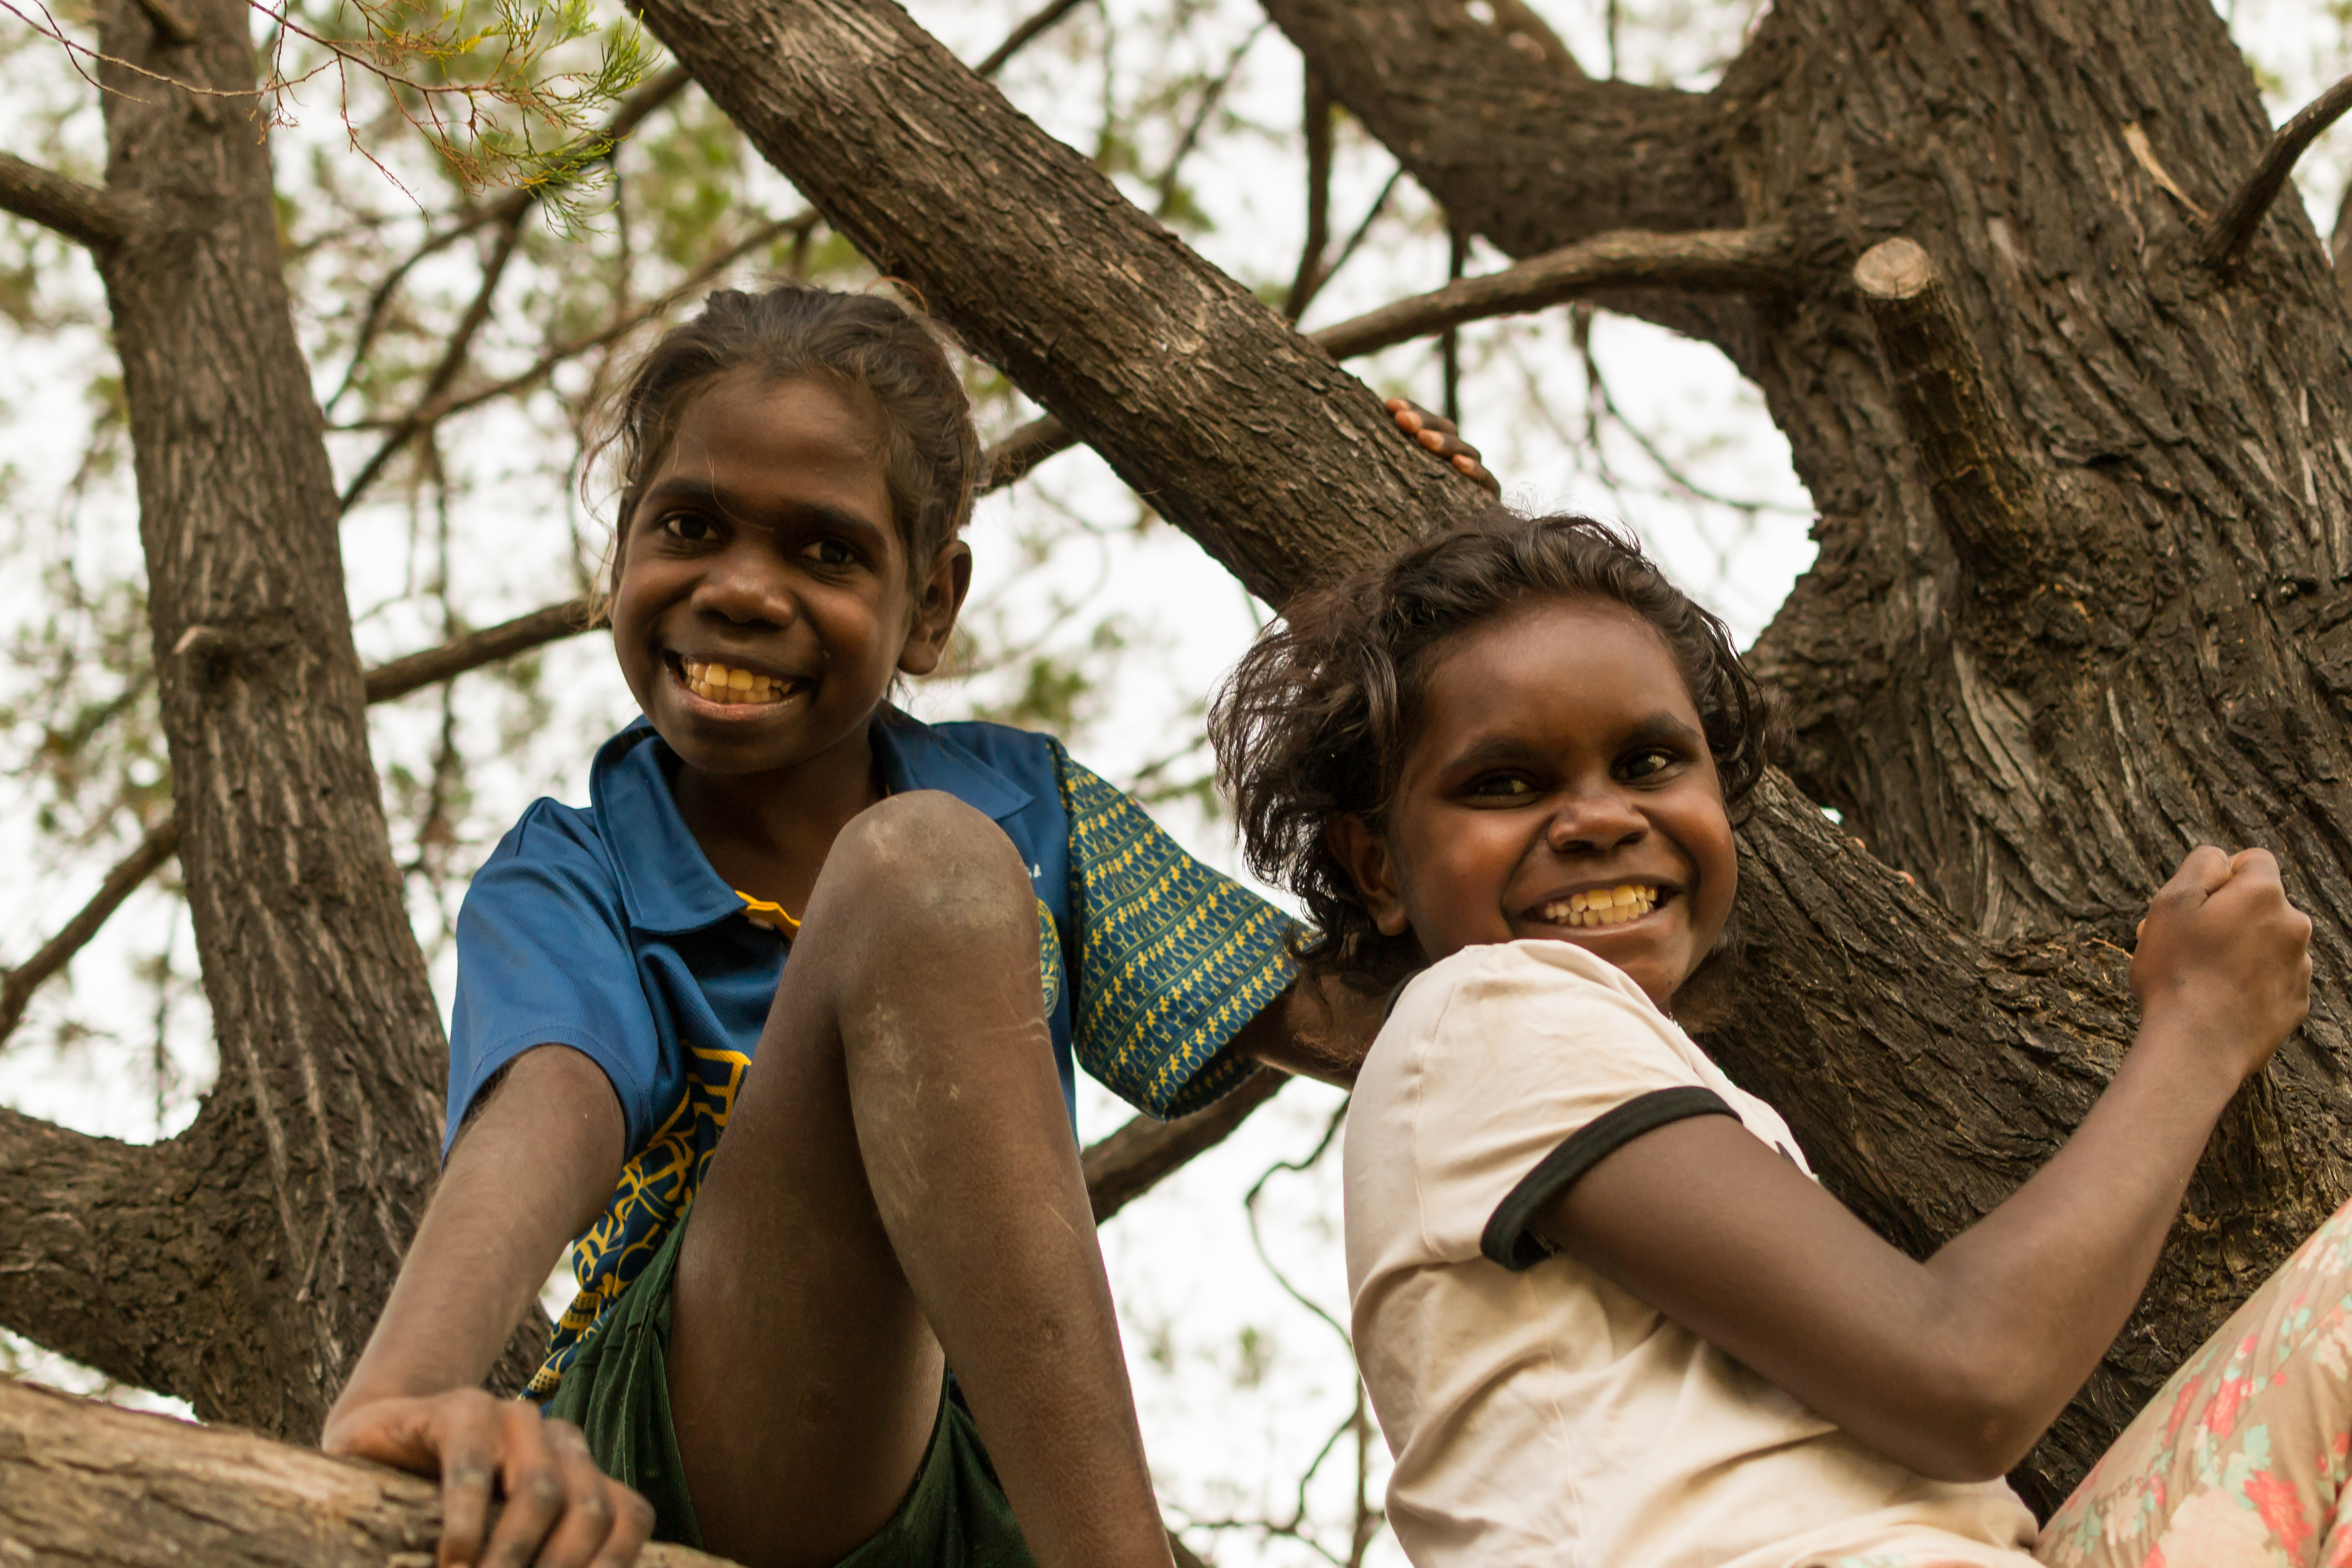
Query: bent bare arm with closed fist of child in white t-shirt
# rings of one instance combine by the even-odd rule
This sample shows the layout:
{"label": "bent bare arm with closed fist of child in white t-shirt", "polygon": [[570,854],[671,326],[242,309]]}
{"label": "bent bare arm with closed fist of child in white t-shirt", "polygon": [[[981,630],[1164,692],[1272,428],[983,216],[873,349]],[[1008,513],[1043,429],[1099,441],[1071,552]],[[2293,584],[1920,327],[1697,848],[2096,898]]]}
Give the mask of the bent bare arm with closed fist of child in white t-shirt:
{"label": "bent bare arm with closed fist of child in white t-shirt", "polygon": [[2192,853],[2143,924],[2124,1067],[1924,1265],[1726,1117],[1628,1143],[1536,1234],[1919,1474],[1997,1476],[2122,1331],[2223,1105],[2303,1020],[2307,940],[2267,853]]}

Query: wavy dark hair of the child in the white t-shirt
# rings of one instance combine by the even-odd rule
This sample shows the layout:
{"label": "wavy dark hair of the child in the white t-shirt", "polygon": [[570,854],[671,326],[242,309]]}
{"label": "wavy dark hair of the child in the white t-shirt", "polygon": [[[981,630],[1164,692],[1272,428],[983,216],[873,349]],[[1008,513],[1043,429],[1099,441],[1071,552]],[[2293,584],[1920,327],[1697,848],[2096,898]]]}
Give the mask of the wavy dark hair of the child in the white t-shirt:
{"label": "wavy dark hair of the child in the white t-shirt", "polygon": [[1778,743],[1771,693],[1724,623],[1675,588],[1630,536],[1576,515],[1491,515],[1421,538],[1294,599],[1216,693],[1209,741],[1254,872],[1305,903],[1310,969],[1381,985],[1421,964],[1411,933],[1381,936],[1327,827],[1381,827],[1418,729],[1432,654],[1534,597],[1611,599],[1658,628],[1698,708],[1724,804],[1757,788]]}

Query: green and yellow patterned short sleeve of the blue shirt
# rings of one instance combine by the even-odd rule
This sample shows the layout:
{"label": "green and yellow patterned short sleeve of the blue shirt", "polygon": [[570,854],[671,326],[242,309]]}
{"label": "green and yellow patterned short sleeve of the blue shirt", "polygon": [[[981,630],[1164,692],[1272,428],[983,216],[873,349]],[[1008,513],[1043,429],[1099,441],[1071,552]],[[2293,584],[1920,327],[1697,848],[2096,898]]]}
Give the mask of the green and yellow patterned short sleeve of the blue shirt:
{"label": "green and yellow patterned short sleeve of the blue shirt", "polygon": [[1070,1048],[1136,1110],[1195,1112],[1256,1070],[1218,1051],[1289,987],[1298,924],[1061,745],[1054,769],[1070,816]]}

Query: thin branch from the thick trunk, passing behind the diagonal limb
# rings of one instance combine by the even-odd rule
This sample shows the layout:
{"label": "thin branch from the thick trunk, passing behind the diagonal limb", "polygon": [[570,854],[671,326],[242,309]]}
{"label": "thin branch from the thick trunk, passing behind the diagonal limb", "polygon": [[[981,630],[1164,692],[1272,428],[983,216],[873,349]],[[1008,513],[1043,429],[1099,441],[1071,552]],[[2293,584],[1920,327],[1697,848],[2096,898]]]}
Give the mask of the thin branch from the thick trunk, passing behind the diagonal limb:
{"label": "thin branch from the thick trunk, passing behind the diagonal limb", "polygon": [[[1501,273],[1463,277],[1428,294],[1395,299],[1308,336],[1334,360],[1355,360],[1465,322],[1548,310],[1609,289],[1762,294],[1795,282],[1795,244],[1788,230],[1773,226],[1595,235]],[[1075,444],[1077,437],[1051,414],[1028,421],[988,449],[988,477],[981,494],[1011,484],[1044,458]]]}

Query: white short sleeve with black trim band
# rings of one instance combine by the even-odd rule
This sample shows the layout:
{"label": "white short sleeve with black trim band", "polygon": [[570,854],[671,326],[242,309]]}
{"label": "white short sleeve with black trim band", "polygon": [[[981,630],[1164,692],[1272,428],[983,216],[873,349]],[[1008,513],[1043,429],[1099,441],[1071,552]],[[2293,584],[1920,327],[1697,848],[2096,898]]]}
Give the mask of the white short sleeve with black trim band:
{"label": "white short sleeve with black trim band", "polygon": [[1606,969],[1564,943],[1472,947],[1399,999],[1390,1027],[1423,1041],[1409,1121],[1439,1255],[1531,1267],[1548,1255],[1536,1211],[1602,1157],[1684,1117],[1738,1114],[1675,1048],[1675,1025],[1588,964]]}

